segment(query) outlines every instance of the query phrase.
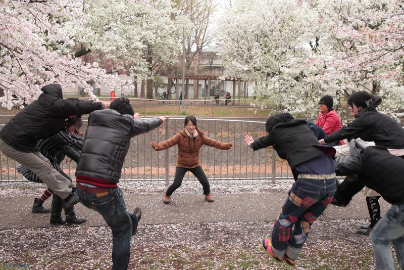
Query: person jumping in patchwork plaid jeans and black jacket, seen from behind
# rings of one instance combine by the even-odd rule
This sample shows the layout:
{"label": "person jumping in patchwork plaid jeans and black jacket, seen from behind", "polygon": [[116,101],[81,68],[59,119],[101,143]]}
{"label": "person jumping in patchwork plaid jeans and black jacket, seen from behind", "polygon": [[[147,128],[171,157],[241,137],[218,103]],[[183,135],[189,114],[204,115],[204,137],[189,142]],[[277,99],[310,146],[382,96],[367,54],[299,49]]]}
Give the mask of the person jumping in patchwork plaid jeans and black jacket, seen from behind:
{"label": "person jumping in patchwork plaid jeans and black jacket, seen from behind", "polygon": [[334,196],[335,149],[320,145],[308,123],[294,120],[290,113],[270,116],[265,129],[268,135],[256,140],[246,135],[247,146],[254,151],[273,146],[287,159],[295,182],[274,222],[272,238],[265,236],[262,246],[273,261],[294,266],[313,222]]}

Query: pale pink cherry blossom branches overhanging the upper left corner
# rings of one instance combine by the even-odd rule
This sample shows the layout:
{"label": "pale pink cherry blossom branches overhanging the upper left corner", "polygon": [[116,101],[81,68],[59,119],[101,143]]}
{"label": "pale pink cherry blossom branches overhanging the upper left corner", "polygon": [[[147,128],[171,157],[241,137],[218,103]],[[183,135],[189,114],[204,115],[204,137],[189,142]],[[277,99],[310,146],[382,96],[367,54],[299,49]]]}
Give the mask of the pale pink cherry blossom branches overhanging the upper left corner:
{"label": "pale pink cherry blossom branches overhanging the upper left corner", "polygon": [[0,1],[2,106],[30,103],[49,83],[68,87],[74,79],[92,98],[87,81],[115,84],[116,77],[97,63],[84,65],[72,54],[77,29],[86,20],[82,9],[82,3],[73,0]]}

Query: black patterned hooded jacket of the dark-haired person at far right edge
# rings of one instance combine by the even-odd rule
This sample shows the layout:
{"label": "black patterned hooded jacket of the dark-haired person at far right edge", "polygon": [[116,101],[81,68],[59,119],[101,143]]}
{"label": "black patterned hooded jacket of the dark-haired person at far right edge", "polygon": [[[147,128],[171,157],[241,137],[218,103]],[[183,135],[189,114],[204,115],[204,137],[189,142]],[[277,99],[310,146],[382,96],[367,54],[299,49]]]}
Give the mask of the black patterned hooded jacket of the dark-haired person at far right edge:
{"label": "black patterned hooded jacket of the dark-haired person at far right edge", "polygon": [[354,121],[327,135],[324,141],[333,143],[360,137],[385,148],[404,149],[404,129],[397,121],[376,110],[380,103],[381,98],[376,97],[368,108],[355,116]]}

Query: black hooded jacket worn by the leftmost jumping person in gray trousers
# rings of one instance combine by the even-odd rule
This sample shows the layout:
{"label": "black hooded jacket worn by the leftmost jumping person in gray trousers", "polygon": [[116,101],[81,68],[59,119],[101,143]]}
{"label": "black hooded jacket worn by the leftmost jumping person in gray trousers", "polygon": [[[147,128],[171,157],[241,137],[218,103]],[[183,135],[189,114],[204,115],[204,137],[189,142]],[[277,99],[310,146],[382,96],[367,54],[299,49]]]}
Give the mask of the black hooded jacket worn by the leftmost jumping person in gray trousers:
{"label": "black hooded jacket worn by the leftmost jumping person in gray trousers", "polygon": [[37,100],[14,116],[0,130],[0,138],[8,145],[23,151],[33,152],[36,143],[65,127],[69,115],[88,114],[104,108],[100,102],[65,100],[59,84],[41,88]]}

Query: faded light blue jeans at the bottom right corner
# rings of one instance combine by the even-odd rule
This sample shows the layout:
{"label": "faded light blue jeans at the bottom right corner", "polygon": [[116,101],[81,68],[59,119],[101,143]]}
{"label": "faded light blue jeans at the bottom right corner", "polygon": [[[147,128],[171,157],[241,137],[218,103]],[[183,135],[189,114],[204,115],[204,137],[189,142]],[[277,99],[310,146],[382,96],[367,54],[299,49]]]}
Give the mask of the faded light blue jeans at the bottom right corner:
{"label": "faded light blue jeans at the bottom right corner", "polygon": [[390,243],[398,265],[404,269],[404,203],[393,204],[370,231],[376,269],[396,269]]}

